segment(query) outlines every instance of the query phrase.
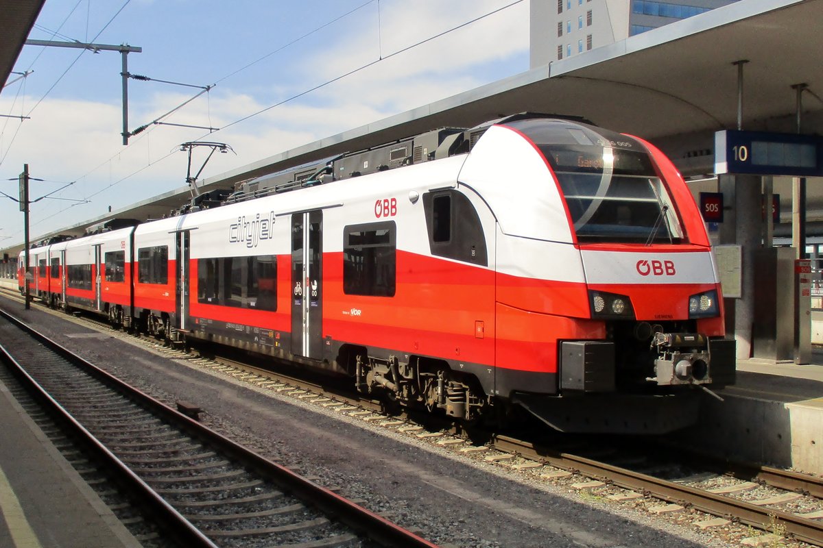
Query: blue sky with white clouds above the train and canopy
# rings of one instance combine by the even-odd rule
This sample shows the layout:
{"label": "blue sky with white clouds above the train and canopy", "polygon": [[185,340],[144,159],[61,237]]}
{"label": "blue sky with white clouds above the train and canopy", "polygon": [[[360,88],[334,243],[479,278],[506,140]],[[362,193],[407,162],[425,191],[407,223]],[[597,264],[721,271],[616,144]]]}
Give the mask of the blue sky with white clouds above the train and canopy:
{"label": "blue sky with white clouds above the train and canopy", "polygon": [[[181,143],[235,150],[202,180],[527,71],[528,1],[46,0],[30,39],[142,48],[128,71],[153,81],[129,80],[128,125],[148,128],[123,146],[120,53],[24,46],[14,71],[32,72],[2,89],[0,114],[30,118],[0,117],[0,191],[17,197],[24,163],[42,179],[36,241],[184,186]],[[213,87],[178,108],[203,91],[189,86]],[[0,195],[0,248],[21,242]]]}

